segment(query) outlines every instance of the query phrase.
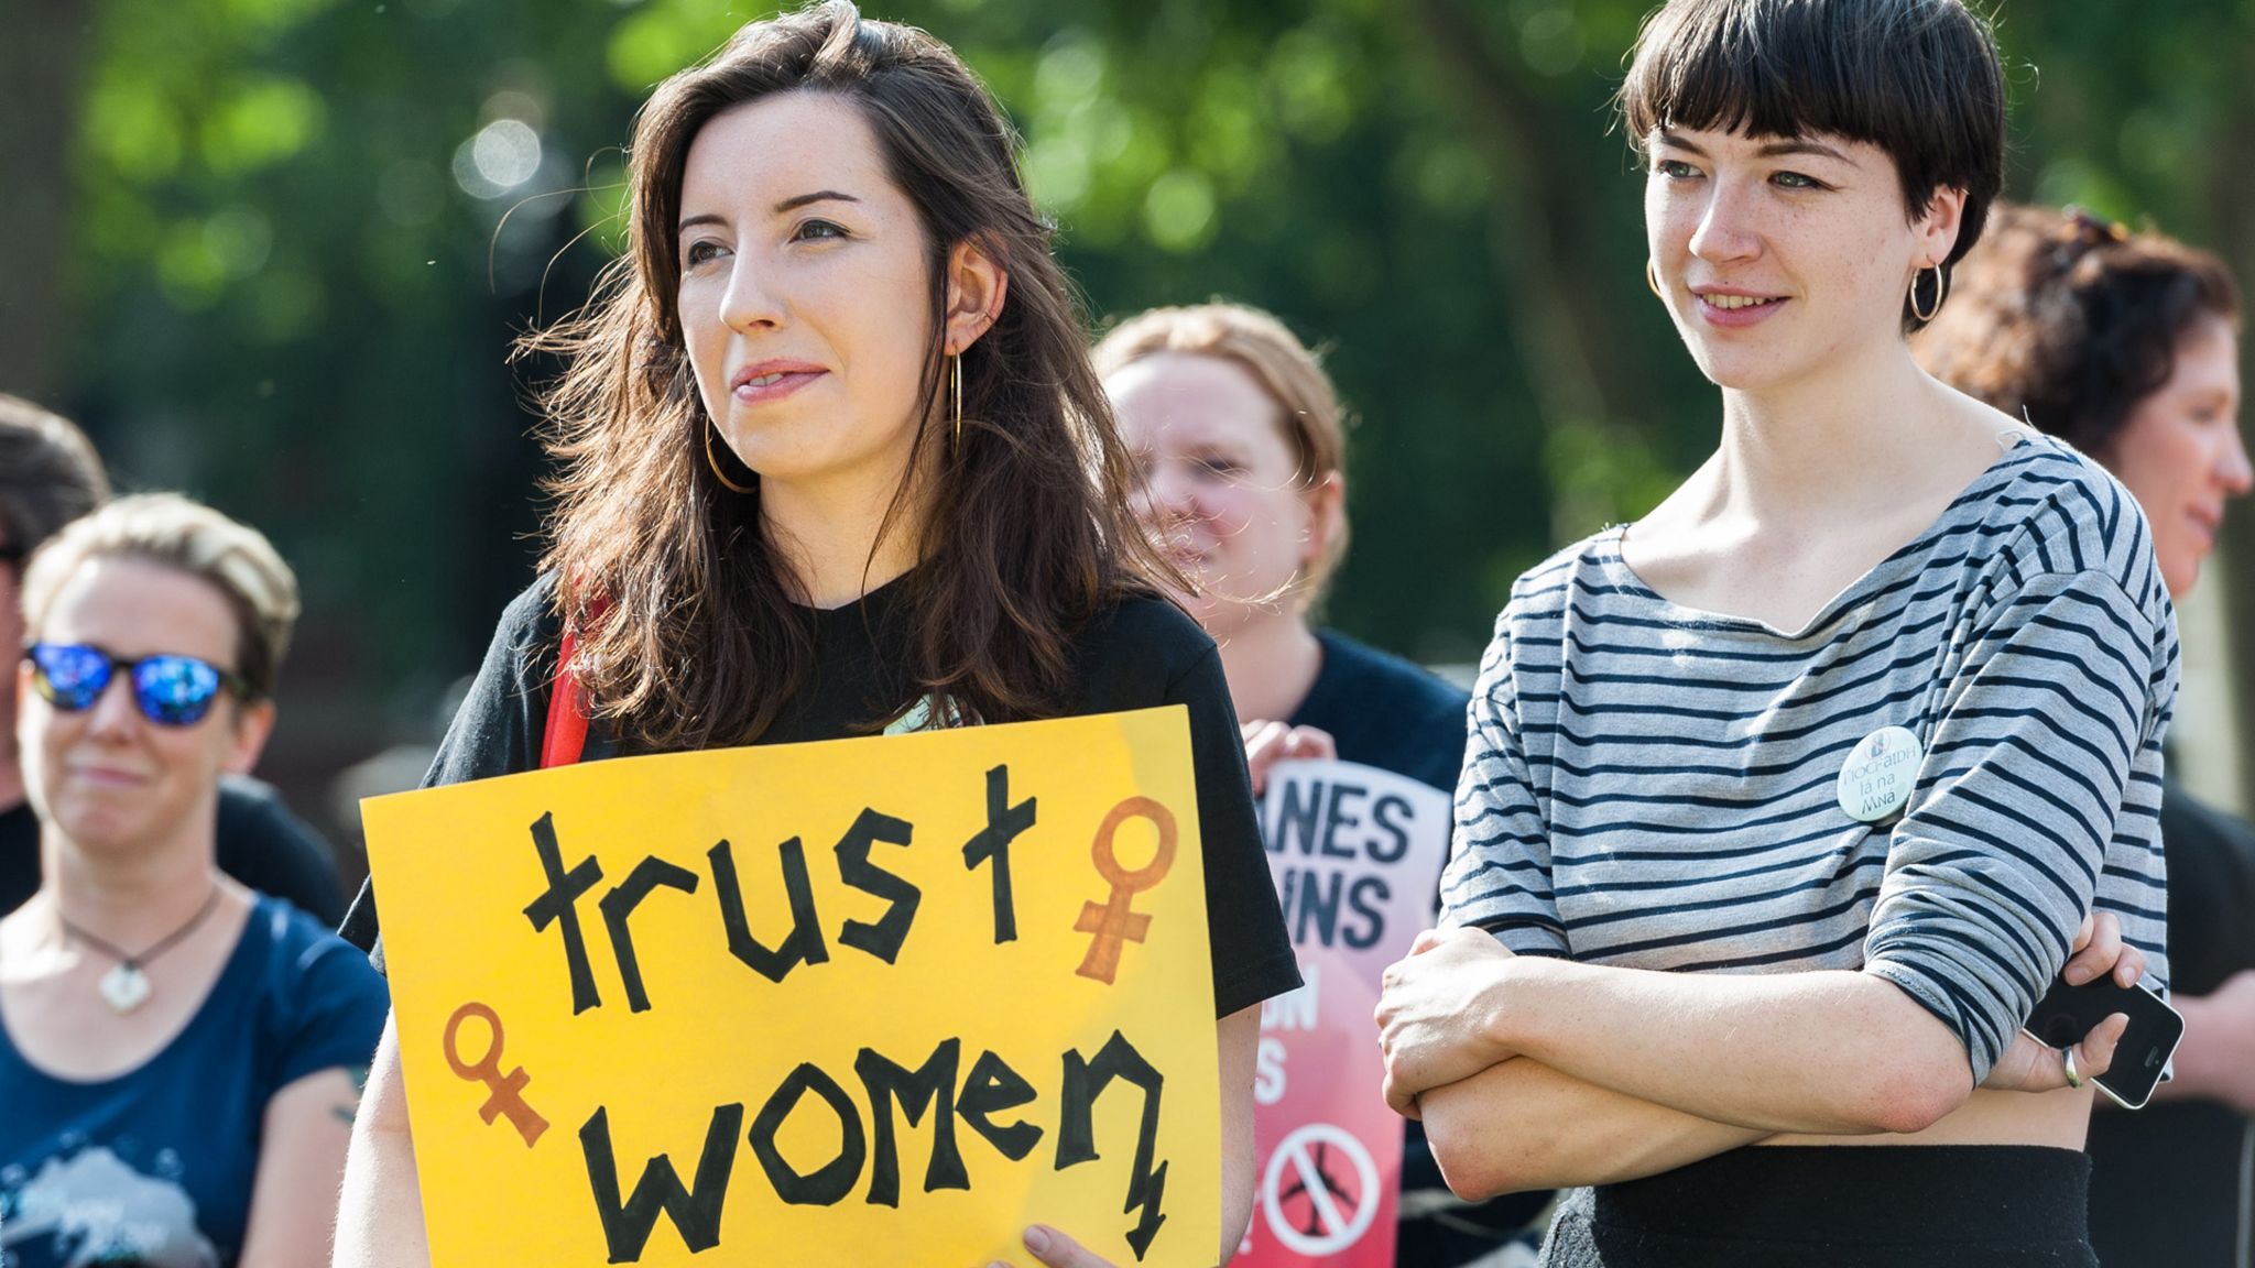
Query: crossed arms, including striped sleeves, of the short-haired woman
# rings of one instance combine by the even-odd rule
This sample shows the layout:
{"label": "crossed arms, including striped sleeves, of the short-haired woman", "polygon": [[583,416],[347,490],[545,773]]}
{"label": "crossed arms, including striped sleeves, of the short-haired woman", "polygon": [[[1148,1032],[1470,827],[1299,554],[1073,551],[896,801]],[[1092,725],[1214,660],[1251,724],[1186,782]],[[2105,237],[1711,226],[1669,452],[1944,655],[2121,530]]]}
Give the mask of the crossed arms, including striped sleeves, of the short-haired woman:
{"label": "crossed arms, including striped sleeves, of the short-haired woman", "polygon": [[[1452,918],[1565,954],[1513,648],[1515,620],[1542,602],[1515,591],[1482,661],[1443,893]],[[2063,959],[2070,981],[2145,968],[2111,918],[2090,948],[2077,941],[2097,972],[2059,952],[2099,871],[2126,862],[2115,819],[2158,794],[2174,643],[2095,571],[2016,575],[1982,620],[1939,699],[1924,792],[1887,828],[1865,970],[1648,972],[1513,957],[1475,927],[1425,934],[1387,972],[1387,1099],[1425,1119],[1459,1194],[1626,1180],[1772,1133],[1919,1133],[1966,1103],[1975,1072],[1989,1090],[2066,1085],[2059,1054],[2016,1036],[2014,1013]],[[1558,699],[1565,652],[1549,629],[1522,648],[1538,702]],[[2086,677],[2063,679],[2063,661]],[[2104,1069],[2124,1024],[2086,1036],[2084,1074]]]}

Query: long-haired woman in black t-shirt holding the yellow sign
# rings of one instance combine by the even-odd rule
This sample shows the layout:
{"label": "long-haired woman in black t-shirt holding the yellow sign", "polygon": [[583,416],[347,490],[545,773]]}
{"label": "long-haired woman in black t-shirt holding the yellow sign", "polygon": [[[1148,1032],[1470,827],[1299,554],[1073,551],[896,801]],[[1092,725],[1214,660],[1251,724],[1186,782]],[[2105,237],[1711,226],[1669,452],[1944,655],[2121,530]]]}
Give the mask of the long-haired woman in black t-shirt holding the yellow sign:
{"label": "long-haired woman in black t-shirt holding the yellow sign", "polygon": [[[1252,1212],[1258,1004],[1299,977],[1220,659],[1155,584],[1010,126],[943,43],[830,0],[661,83],[631,194],[627,257],[530,341],[568,361],[546,571],[433,783],[539,765],[566,629],[589,758],[1186,704],[1227,1259]],[[422,1263],[390,1033],[368,1101],[338,1261]],[[1026,1245],[1096,1263],[1060,1230]]]}

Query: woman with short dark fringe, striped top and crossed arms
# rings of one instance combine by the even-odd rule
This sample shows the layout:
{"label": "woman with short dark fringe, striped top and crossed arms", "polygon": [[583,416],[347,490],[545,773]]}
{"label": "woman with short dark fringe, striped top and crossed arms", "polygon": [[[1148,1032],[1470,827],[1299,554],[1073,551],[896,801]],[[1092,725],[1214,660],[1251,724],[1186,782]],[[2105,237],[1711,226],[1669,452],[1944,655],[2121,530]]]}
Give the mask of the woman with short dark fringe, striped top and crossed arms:
{"label": "woman with short dark fringe, striped top and crossed arms", "polygon": [[2090,1263],[2126,1018],[2018,1029],[2061,972],[2165,981],[2176,629],[2122,485],[1903,338],[2000,185],[1989,32],[1673,0],[1621,106],[1721,444],[1513,587],[1389,1099],[1459,1191],[1597,1185],[1558,1266]]}

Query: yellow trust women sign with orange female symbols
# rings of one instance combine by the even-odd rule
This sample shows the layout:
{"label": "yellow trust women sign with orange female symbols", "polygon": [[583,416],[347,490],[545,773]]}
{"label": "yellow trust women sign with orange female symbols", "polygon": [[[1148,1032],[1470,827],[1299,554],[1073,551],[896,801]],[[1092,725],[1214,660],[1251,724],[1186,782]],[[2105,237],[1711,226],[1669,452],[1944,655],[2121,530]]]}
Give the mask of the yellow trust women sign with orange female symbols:
{"label": "yellow trust women sign with orange female symbols", "polygon": [[437,1268],[1209,1266],[1182,706],[379,796]]}

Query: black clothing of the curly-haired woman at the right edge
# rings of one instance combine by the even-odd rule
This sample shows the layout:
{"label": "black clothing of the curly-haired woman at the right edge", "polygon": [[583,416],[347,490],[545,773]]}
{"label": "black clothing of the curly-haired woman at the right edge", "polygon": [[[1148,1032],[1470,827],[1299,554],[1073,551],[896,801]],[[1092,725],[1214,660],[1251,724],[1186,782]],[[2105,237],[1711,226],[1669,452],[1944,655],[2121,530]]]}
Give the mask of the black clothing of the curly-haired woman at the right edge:
{"label": "black clothing of the curly-haired woman at the right edge", "polygon": [[[2255,828],[2160,790],[2169,866],[2169,975],[2208,995],[2255,968]],[[2250,1056],[2255,1058],[2255,1056]],[[2239,1268],[2255,1223],[2255,1121],[2221,1101],[2090,1115],[2090,1248],[2106,1268]]]}

